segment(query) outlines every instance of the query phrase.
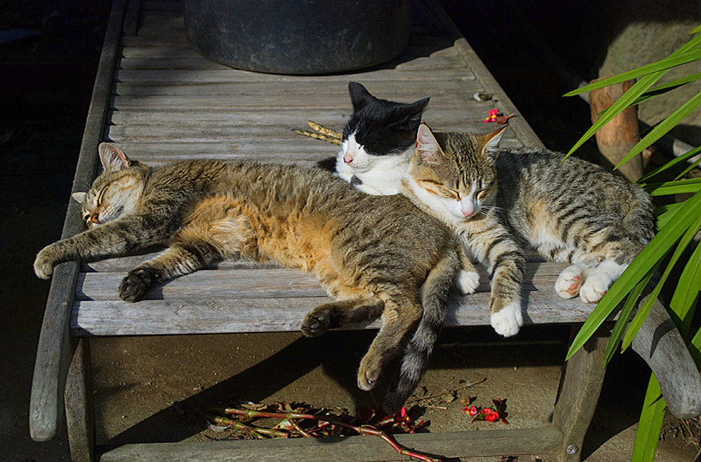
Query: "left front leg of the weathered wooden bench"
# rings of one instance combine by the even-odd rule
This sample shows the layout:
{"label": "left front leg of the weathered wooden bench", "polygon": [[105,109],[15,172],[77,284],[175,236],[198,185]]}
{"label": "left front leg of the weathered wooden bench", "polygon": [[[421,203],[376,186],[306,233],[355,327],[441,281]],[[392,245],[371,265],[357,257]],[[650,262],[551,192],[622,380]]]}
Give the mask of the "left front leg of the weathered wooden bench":
{"label": "left front leg of the weathered wooden bench", "polygon": [[73,462],[95,460],[95,408],[90,340],[79,339],[66,379],[66,426]]}

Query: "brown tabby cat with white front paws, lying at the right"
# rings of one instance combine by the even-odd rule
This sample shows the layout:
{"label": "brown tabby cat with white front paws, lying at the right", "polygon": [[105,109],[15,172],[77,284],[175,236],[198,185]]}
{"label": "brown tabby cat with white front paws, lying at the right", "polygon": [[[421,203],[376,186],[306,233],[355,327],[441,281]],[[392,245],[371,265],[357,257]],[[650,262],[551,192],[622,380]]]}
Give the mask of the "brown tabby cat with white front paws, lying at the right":
{"label": "brown tabby cat with white front paws, lying at the right", "polygon": [[552,151],[500,149],[504,128],[475,135],[421,125],[403,182],[404,194],[489,269],[491,325],[508,336],[523,323],[526,249],[569,262],[555,290],[594,303],[653,238],[655,222],[641,188]]}

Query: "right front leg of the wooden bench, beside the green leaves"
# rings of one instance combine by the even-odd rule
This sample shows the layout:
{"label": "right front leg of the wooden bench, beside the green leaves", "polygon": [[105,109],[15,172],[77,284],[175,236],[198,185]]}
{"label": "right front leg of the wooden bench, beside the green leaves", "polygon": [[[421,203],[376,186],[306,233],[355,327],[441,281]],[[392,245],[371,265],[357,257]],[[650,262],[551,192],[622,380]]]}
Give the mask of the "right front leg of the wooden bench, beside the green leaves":
{"label": "right front leg of the wooden bench, beside the green leaves", "polygon": [[553,425],[563,435],[557,461],[580,460],[584,436],[604,384],[604,351],[609,335],[606,326],[599,328],[565,365],[552,414]]}

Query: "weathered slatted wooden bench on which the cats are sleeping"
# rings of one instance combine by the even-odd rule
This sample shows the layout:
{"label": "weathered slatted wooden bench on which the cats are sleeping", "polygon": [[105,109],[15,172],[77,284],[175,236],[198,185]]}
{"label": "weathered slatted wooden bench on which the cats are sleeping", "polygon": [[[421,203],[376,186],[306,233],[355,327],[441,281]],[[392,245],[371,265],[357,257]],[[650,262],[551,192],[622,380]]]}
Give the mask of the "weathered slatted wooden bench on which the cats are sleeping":
{"label": "weathered slatted wooden bench on which the cats are sleeping", "polygon": [[[411,102],[430,96],[424,119],[447,130],[484,130],[481,122],[495,107],[516,112],[440,6],[419,1],[415,9],[409,48],[394,62],[362,73],[274,76],[229,69],[198,55],[186,41],[179,1],[116,0],[76,169],[76,190],[95,177],[97,145],[103,140],[114,141],[151,165],[189,158],[256,158],[312,167],[333,155],[333,148],[290,130],[304,128],[307,119],[340,128],[351,109],[346,93],[349,80],[358,80],[388,99]],[[472,99],[476,92],[494,97],[477,102]],[[523,118],[513,119],[510,128],[506,145],[540,146]],[[79,232],[82,225],[79,206],[71,202],[63,237]],[[34,440],[52,438],[65,410],[74,461],[98,457],[100,461],[397,458],[383,442],[362,437],[332,444],[310,439],[128,444],[97,454],[91,337],[299,330],[304,314],[326,300],[315,279],[301,272],[222,262],[153,290],[143,302],[121,302],[116,295],[118,282],[144,258],[87,265],[68,262],[55,270],[32,384],[29,423]],[[529,262],[526,323],[578,326],[590,314],[592,306],[555,295],[553,281],[562,268]],[[451,299],[447,325],[488,325],[489,284],[486,275],[482,280],[475,295]],[[656,372],[665,374],[664,364],[654,365],[653,353],[665,344],[679,349],[681,338],[673,325],[658,329],[658,325],[669,327],[663,309],[660,316],[657,324],[646,324],[649,339],[639,341],[637,348],[646,353]],[[564,365],[550,426],[398,435],[397,440],[448,457],[554,454],[559,461],[578,461],[604,379],[601,359],[607,338],[608,331],[601,329]],[[688,398],[686,392],[681,395],[681,400]]]}

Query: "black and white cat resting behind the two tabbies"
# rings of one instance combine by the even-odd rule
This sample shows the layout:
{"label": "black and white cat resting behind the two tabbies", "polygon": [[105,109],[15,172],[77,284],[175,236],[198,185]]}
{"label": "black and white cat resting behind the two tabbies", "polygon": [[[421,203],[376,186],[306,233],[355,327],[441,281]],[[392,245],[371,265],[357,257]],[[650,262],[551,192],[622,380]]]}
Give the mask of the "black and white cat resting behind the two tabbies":
{"label": "black and white cat resting behind the two tabbies", "polygon": [[348,83],[348,92],[353,116],[343,128],[336,174],[367,194],[399,194],[428,98],[411,104],[391,102],[372,96],[356,82]]}

